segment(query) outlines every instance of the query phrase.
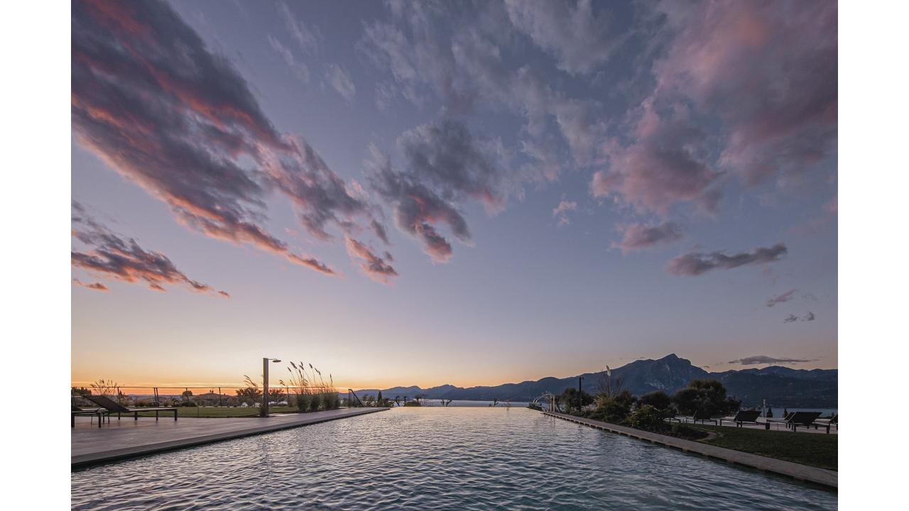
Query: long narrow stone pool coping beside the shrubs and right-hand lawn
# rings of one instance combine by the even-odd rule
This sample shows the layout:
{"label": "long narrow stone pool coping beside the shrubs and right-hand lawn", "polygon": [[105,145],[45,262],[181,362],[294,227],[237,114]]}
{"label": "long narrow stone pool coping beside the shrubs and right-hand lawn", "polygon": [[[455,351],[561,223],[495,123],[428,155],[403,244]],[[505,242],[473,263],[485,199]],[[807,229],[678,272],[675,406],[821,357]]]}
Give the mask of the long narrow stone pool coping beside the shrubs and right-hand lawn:
{"label": "long narrow stone pool coping beside the shrubs and right-hand lawn", "polygon": [[546,416],[552,416],[571,421],[584,426],[603,429],[605,431],[609,431],[610,433],[629,436],[632,438],[637,438],[639,440],[646,440],[648,442],[659,444],[661,446],[674,447],[676,449],[681,449],[684,452],[696,453],[716,460],[722,460],[728,463],[734,463],[742,466],[750,466],[764,472],[772,472],[781,476],[789,476],[798,481],[807,481],[816,485],[838,489],[838,473],[834,470],[819,468],[817,466],[802,465],[800,463],[784,461],[782,459],[776,459],[767,456],[744,453],[742,451],[727,449],[725,447],[710,446],[701,442],[694,442],[692,440],[684,440],[683,438],[676,438],[674,436],[651,433],[649,431],[643,431],[641,429],[634,429],[634,427],[617,426],[614,424],[609,424],[607,422],[587,419],[583,417],[569,416],[566,414],[558,414],[554,412],[543,412],[543,414]]}

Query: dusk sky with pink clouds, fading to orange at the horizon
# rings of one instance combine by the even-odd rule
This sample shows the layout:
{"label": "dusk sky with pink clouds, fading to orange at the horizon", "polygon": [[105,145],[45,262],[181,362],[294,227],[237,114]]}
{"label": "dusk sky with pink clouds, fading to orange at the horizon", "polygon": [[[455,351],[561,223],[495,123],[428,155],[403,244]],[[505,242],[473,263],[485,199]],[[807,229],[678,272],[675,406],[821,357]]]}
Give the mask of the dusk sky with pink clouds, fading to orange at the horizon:
{"label": "dusk sky with pink clouds, fading to orange at the horizon", "polygon": [[75,383],[837,366],[834,2],[80,0],[71,97]]}

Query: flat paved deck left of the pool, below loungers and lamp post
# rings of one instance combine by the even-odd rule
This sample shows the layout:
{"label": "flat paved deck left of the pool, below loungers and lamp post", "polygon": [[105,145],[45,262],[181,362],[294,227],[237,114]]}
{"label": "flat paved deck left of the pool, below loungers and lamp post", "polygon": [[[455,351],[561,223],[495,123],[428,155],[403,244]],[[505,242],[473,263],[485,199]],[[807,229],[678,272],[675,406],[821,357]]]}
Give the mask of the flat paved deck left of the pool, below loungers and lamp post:
{"label": "flat paved deck left of the pool, below loungers and lamp post", "polygon": [[362,416],[388,408],[342,408],[309,414],[270,417],[195,418],[132,416],[112,417],[103,427],[91,424],[90,417],[76,417],[70,438],[70,466],[106,463],[127,457],[145,456],[189,446],[199,446],[241,436],[261,435],[290,427]]}

